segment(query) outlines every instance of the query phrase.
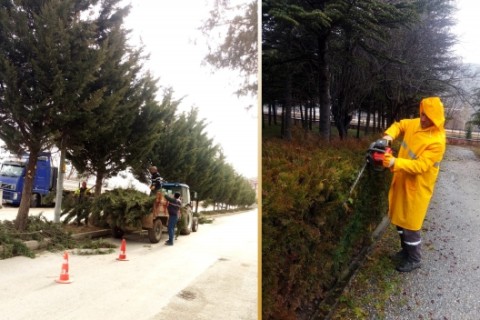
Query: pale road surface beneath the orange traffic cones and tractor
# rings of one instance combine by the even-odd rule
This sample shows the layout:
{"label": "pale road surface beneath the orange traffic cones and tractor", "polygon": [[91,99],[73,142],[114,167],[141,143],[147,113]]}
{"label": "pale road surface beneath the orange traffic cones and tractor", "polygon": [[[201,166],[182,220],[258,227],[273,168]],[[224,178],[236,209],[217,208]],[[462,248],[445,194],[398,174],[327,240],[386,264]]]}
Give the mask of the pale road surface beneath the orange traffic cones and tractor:
{"label": "pale road surface beneath the orange traffic cones and tractor", "polygon": [[127,235],[128,261],[70,252],[71,284],[55,282],[63,252],[0,260],[0,318],[258,319],[257,210],[217,217],[172,247],[166,238]]}

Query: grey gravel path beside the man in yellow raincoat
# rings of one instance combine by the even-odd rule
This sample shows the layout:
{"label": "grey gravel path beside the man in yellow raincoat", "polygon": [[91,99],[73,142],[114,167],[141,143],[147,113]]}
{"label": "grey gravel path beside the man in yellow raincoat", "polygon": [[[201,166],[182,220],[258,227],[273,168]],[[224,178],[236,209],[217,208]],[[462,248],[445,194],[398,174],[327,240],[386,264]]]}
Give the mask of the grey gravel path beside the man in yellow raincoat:
{"label": "grey gravel path beside the man in yellow raincoat", "polygon": [[402,274],[385,319],[480,319],[480,162],[447,146],[423,224],[422,268]]}

